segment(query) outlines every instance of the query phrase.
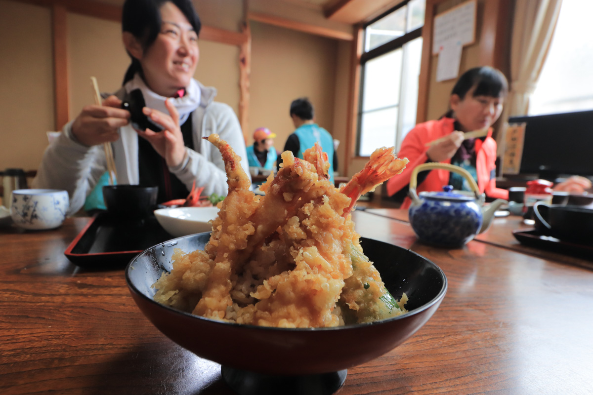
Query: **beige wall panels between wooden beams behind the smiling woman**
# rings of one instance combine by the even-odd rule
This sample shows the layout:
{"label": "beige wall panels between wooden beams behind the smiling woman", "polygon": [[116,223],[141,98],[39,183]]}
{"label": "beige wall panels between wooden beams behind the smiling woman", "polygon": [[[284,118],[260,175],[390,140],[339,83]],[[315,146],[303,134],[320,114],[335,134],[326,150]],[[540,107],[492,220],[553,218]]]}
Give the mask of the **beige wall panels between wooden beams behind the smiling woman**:
{"label": "beige wall panels between wooden beams behind the smiling woman", "polygon": [[[230,3],[202,2],[205,24],[219,28],[233,25],[238,30],[243,10],[225,11]],[[33,170],[47,146],[46,131],[55,129],[51,11],[8,0],[0,0],[0,9],[0,171]],[[218,25],[209,23],[215,11],[224,11],[216,20]],[[121,86],[130,61],[123,48],[120,23],[73,13],[68,13],[67,23],[68,108],[72,119],[82,107],[94,102],[90,76],[97,77],[101,92],[114,92]],[[215,86],[216,100],[238,113],[238,47],[204,40],[199,45],[196,79]]]}

